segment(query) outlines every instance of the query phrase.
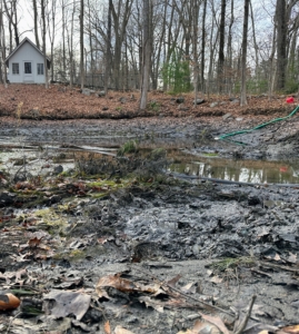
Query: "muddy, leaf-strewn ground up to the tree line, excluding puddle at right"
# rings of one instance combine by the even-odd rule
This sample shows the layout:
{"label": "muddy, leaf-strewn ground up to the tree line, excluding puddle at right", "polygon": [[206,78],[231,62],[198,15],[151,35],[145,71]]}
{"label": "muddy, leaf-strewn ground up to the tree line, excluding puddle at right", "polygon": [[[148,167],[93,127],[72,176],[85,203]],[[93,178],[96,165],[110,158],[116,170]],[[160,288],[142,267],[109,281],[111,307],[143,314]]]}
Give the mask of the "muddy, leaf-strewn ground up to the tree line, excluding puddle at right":
{"label": "muddy, leaf-strewn ground up to the tree line, excluding puddle at right", "polygon": [[216,138],[297,105],[88,94],[0,88],[0,332],[299,333],[299,184],[166,168],[169,148],[296,160],[297,115]]}

